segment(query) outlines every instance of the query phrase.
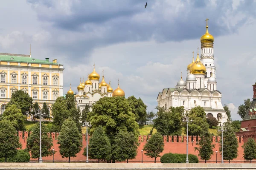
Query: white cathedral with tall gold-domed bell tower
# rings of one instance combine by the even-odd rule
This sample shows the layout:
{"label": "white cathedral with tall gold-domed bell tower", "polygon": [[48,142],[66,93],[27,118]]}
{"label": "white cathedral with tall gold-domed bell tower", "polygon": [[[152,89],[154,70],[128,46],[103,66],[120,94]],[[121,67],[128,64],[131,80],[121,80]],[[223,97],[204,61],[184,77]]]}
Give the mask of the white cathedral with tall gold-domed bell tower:
{"label": "white cathedral with tall gold-domed bell tower", "polygon": [[[206,20],[208,21],[208,19]],[[207,24],[206,24],[207,25]],[[214,66],[214,37],[208,32],[201,37],[201,56],[187,66],[186,81],[181,79],[175,88],[164,88],[157,96],[159,107],[184,106],[185,112],[201,106],[207,117],[227,122],[227,114],[221,104],[221,92],[217,90],[216,68]]]}

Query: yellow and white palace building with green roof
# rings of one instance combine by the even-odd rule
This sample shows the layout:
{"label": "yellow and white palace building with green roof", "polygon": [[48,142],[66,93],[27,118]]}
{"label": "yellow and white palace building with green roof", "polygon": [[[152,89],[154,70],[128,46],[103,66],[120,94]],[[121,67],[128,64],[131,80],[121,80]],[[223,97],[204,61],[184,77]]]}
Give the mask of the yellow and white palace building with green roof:
{"label": "yellow and white palace building with green roof", "polygon": [[31,55],[0,53],[0,114],[3,114],[12,93],[22,90],[48,108],[63,95],[63,65],[57,59],[49,61]]}

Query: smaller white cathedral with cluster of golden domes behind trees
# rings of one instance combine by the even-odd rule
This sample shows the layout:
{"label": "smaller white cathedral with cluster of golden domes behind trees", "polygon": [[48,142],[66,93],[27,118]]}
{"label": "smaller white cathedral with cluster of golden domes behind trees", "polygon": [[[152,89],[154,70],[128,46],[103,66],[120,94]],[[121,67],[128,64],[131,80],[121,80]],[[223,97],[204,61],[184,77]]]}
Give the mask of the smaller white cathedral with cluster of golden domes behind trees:
{"label": "smaller white cathedral with cluster of golden domes behind trees", "polygon": [[[114,97],[114,96],[125,96],[125,92],[119,87],[119,79],[118,86],[113,91],[111,88],[111,82],[109,84],[105,82],[104,71],[102,71],[102,81],[99,82],[100,75],[95,71],[95,65],[93,65],[93,72],[88,74],[87,80],[81,82],[77,86],[78,93],[75,94],[76,104],[81,109],[81,111],[85,108],[86,105],[91,106],[93,103],[97,102],[102,97]],[[67,92],[67,94],[74,94],[71,89]]]}

